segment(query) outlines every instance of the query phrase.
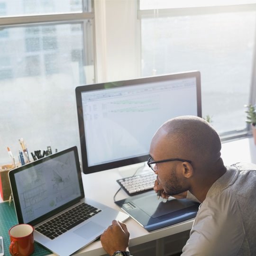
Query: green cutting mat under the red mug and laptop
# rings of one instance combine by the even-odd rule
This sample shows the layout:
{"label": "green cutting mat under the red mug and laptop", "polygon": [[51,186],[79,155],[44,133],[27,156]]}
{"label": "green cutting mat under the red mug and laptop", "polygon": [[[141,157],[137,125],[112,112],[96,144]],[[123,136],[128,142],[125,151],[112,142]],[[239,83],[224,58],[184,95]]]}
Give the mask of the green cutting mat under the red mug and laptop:
{"label": "green cutting mat under the red mug and laptop", "polygon": [[[9,202],[3,202],[0,203],[0,236],[3,237],[3,243],[4,243],[4,255],[10,256],[9,253],[9,244],[10,244],[10,238],[8,231],[9,229],[18,224],[18,220],[15,213],[15,208],[13,201],[9,205]],[[45,256],[49,255],[51,252],[47,250],[45,247],[42,247],[41,245],[37,244],[35,242],[35,251],[33,256]]]}

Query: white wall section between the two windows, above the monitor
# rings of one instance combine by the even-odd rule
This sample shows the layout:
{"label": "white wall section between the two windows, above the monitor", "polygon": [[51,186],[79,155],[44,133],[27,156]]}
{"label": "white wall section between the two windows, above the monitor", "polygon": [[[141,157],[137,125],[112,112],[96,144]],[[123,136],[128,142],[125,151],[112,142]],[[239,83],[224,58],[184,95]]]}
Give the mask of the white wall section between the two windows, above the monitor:
{"label": "white wall section between the two windows, above the monitor", "polygon": [[97,82],[139,76],[137,0],[95,0]]}

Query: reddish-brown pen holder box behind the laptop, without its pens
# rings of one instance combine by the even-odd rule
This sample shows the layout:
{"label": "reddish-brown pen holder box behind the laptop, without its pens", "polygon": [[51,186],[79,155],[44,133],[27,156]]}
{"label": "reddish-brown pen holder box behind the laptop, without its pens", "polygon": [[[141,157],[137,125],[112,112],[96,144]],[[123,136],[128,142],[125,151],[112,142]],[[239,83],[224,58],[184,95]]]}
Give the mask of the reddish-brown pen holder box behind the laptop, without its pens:
{"label": "reddish-brown pen holder box behind the laptop, without its pens", "polygon": [[0,193],[3,201],[9,200],[11,194],[8,172],[13,168],[15,168],[14,165],[0,166]]}

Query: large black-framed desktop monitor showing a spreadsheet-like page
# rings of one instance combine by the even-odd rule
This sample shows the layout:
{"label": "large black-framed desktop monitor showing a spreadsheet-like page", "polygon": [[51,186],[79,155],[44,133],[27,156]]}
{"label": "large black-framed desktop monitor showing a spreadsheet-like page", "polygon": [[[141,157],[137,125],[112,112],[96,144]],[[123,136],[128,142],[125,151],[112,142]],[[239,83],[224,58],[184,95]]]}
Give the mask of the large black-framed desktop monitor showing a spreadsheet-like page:
{"label": "large black-framed desktop monitor showing a spreadsheet-like page", "polygon": [[165,121],[201,117],[198,71],[82,85],[75,92],[85,174],[145,162]]}

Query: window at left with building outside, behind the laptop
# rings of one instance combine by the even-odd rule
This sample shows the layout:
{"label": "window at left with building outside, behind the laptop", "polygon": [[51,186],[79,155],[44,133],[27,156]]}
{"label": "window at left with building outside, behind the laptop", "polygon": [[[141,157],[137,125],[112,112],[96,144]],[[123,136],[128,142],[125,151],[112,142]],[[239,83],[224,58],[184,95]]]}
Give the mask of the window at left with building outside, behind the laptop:
{"label": "window at left with building outside, behind the laptop", "polygon": [[92,11],[91,0],[1,0],[0,164],[7,146],[18,162],[20,138],[29,152],[79,146],[75,87],[94,79]]}

